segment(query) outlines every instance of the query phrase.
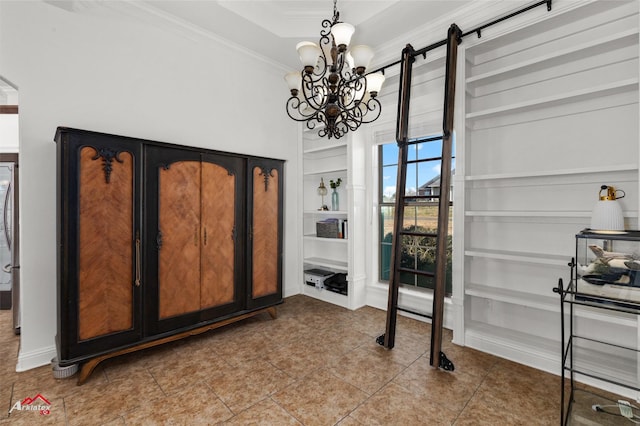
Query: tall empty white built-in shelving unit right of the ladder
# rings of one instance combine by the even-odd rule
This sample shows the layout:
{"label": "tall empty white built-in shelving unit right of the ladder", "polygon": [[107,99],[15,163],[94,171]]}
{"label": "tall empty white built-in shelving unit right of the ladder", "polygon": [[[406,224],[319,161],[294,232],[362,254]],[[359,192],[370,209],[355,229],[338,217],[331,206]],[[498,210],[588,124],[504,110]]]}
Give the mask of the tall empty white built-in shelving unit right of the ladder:
{"label": "tall empty white built-in shelving unit right of the ladder", "polygon": [[[549,283],[568,273],[600,185],[626,192],[628,229],[638,229],[640,206],[638,3],[554,4],[549,14],[460,46],[464,255],[454,283],[464,288],[466,345],[547,370],[560,344]],[[575,315],[640,340],[636,318]]]}

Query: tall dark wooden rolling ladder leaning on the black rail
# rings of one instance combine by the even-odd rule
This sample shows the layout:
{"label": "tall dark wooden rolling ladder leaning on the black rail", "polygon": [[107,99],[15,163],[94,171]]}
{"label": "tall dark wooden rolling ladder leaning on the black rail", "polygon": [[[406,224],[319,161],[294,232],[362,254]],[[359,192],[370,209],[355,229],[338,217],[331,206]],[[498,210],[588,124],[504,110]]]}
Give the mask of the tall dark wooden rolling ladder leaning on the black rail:
{"label": "tall dark wooden rolling ladder leaning on the black rail", "polygon": [[[396,180],[396,201],[394,210],[393,240],[391,246],[391,276],[389,279],[389,298],[387,306],[387,321],[385,334],[379,336],[376,341],[392,349],[395,345],[396,320],[398,311],[408,312],[431,318],[431,352],[429,364],[433,367],[442,368],[446,371],[453,371],[453,363],[447,359],[442,352],[442,329],[444,316],[444,297],[446,283],[447,264],[447,235],[449,229],[449,204],[451,187],[451,158],[452,158],[452,132],[453,132],[453,111],[456,87],[456,62],[458,44],[461,41],[462,32],[452,24],[447,32],[446,40],[434,43],[420,50],[415,50],[411,45],[407,45],[402,51],[400,61],[400,90],[398,97],[398,119],[396,125],[396,141],[398,144],[398,175]],[[418,55],[426,56],[426,52],[440,46],[447,46],[446,70],[445,70],[445,90],[444,90],[444,112],[442,122],[442,136],[424,137],[409,139],[409,104],[411,100],[411,74],[412,65]],[[408,160],[409,146],[418,143],[442,140],[442,155],[440,158]],[[440,194],[439,195],[406,195],[405,187],[407,181],[407,165],[425,161],[441,160],[440,169]],[[416,232],[416,230],[403,229],[404,208],[407,200],[426,198],[438,198],[438,227],[435,233]],[[403,267],[401,265],[402,240],[404,236],[419,238],[428,237],[436,240],[436,262],[435,271],[425,271],[421,269]],[[398,289],[400,285],[400,274],[413,274],[433,278],[433,309],[432,314],[416,312],[398,306]]]}

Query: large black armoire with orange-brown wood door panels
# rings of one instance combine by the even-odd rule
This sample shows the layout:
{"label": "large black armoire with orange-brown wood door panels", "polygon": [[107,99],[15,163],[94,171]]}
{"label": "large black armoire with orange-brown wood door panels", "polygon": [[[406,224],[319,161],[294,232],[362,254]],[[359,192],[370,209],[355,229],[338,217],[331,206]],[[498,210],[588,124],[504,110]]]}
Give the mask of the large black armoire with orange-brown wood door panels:
{"label": "large black armoire with orange-brown wood door panels", "polygon": [[102,360],[282,302],[283,161],[58,128],[58,362]]}

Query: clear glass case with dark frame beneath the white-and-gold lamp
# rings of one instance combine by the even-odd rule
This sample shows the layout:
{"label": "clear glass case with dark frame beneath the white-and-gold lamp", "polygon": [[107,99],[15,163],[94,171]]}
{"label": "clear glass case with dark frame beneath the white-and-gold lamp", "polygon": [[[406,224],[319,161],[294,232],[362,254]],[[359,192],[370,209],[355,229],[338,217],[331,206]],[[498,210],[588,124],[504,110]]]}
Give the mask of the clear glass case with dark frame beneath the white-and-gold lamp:
{"label": "clear glass case with dark frame beneath the white-and-gold lamp", "polygon": [[614,301],[640,302],[640,231],[576,235],[576,292]]}

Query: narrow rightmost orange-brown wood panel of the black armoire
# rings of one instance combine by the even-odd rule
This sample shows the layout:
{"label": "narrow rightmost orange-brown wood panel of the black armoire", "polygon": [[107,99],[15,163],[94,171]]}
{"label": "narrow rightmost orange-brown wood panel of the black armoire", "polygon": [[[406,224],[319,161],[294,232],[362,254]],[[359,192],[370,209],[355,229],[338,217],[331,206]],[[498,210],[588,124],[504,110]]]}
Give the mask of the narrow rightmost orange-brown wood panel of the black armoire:
{"label": "narrow rightmost orange-brown wood panel of the black armoire", "polygon": [[279,289],[278,179],[275,168],[253,168],[251,296],[254,299],[277,293]]}

